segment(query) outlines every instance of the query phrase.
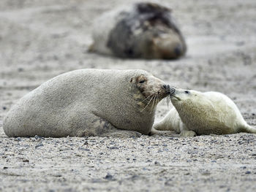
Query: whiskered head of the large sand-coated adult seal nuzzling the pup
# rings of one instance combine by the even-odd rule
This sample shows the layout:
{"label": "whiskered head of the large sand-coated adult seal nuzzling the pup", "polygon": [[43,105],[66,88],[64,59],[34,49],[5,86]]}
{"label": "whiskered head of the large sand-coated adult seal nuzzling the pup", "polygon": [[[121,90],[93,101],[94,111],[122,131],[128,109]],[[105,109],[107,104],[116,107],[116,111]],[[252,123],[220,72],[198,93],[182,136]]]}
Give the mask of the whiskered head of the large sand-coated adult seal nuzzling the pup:
{"label": "whiskered head of the large sand-coated adult seal nuzzling the pup", "polygon": [[147,72],[136,74],[130,78],[129,82],[135,86],[137,91],[134,98],[138,101],[138,105],[143,107],[143,110],[149,105],[151,110],[154,110],[159,101],[170,94],[170,85]]}

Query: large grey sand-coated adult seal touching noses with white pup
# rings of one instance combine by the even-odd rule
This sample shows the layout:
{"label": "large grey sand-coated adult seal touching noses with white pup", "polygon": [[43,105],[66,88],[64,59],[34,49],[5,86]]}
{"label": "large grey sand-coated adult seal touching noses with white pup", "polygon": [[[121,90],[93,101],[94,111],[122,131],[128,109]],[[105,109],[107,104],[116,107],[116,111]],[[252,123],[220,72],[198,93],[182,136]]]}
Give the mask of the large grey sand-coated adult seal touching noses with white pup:
{"label": "large grey sand-coated adult seal touching noses with white pup", "polygon": [[143,70],[75,70],[23,96],[3,128],[9,137],[138,137],[151,131],[169,90]]}

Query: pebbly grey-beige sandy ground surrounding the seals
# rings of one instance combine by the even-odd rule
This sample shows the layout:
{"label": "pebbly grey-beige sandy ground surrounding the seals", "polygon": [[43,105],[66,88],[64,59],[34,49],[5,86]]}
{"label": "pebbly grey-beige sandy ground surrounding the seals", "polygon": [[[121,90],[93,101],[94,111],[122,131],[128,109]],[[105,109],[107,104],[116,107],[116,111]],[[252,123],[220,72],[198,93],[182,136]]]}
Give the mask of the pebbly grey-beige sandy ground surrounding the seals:
{"label": "pebbly grey-beige sandy ground surrounding the seals", "polygon": [[[162,1],[189,47],[178,61],[86,52],[94,18],[127,1],[0,1],[0,191],[256,191],[256,136],[7,138],[21,96],[73,69],[146,69],[181,88],[220,91],[256,126],[256,1]],[[159,120],[167,112],[159,104]]]}

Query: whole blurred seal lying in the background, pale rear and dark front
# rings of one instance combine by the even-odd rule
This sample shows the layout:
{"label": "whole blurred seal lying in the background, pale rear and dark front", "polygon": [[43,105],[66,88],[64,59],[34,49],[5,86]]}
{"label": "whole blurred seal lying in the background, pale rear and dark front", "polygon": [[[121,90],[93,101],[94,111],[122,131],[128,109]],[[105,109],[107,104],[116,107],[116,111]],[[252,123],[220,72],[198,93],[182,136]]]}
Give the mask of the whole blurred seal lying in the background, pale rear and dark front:
{"label": "whole blurred seal lying in the background, pale rear and dark front", "polygon": [[137,3],[106,12],[95,21],[91,52],[121,58],[179,58],[187,46],[171,10]]}

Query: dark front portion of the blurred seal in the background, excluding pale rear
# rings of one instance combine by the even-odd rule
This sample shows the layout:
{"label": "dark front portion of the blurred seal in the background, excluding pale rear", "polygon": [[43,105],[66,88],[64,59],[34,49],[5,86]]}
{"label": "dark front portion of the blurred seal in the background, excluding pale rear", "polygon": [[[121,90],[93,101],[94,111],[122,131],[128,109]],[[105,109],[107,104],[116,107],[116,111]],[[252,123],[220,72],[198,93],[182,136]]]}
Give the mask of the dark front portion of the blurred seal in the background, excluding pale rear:
{"label": "dark front portion of the blurred seal in the background, excluding pale rear", "polygon": [[187,46],[171,10],[154,3],[138,3],[119,12],[121,20],[110,31],[107,47],[121,58],[179,58]]}

